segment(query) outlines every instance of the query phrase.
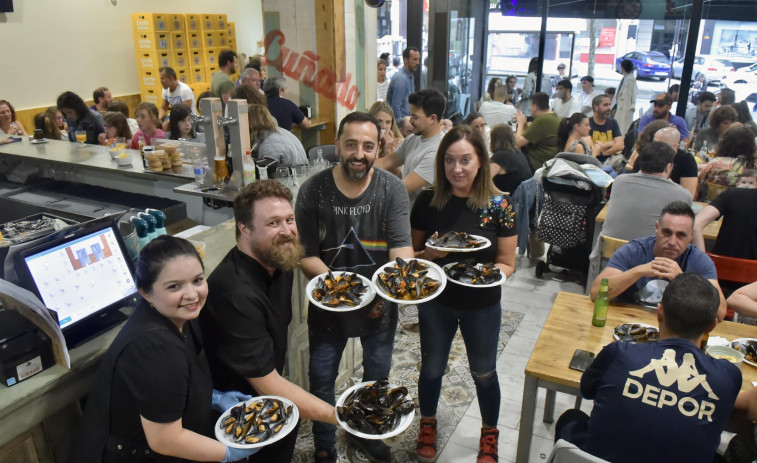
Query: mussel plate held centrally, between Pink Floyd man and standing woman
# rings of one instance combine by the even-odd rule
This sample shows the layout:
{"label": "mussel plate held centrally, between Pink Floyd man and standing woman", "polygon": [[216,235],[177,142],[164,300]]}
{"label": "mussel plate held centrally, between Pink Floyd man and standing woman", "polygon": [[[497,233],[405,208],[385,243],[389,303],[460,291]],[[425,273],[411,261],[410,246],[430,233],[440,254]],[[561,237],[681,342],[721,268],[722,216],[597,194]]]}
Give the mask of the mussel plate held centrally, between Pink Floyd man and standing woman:
{"label": "mussel plate held centrally, between Pink Floyd man and standing woman", "polygon": [[[420,291],[413,291],[414,282],[422,282]],[[376,270],[371,278],[376,294],[397,304],[422,304],[440,295],[447,286],[447,277],[441,267],[425,259],[395,259]],[[389,287],[402,287],[395,293]]]}

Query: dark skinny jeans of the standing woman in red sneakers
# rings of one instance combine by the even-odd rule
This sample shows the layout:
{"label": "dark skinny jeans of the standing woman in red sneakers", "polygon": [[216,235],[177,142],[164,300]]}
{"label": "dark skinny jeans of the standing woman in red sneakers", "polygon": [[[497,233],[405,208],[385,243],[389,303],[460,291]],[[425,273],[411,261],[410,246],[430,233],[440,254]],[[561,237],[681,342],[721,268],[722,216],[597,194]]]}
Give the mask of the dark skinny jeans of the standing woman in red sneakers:
{"label": "dark skinny jeans of the standing woman in red sneakers", "polygon": [[442,376],[459,325],[478,393],[481,418],[485,425],[496,426],[500,401],[497,342],[502,324],[502,305],[498,302],[483,309],[458,310],[431,301],[419,306],[418,322],[421,335],[421,374],[418,379],[421,415],[436,414]]}

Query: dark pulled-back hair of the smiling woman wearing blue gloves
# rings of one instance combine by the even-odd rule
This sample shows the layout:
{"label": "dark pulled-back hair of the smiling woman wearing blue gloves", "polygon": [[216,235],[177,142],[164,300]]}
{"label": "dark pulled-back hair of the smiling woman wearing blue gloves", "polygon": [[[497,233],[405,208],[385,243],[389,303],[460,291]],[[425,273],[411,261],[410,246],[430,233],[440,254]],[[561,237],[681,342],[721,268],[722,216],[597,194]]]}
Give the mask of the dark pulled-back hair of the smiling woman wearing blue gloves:
{"label": "dark pulled-back hair of the smiling woman wearing blue gloves", "polygon": [[197,249],[195,249],[192,243],[183,238],[161,235],[147,243],[139,252],[137,263],[134,265],[137,289],[144,293],[151,293],[152,287],[158,281],[158,276],[166,265],[166,262],[182,256],[197,258],[203,270],[205,270]]}

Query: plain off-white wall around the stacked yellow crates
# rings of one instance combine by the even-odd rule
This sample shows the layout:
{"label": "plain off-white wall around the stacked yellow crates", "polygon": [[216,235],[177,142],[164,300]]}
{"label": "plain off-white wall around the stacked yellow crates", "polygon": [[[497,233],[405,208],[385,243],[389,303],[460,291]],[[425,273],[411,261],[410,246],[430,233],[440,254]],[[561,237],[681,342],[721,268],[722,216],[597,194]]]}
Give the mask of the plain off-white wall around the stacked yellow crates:
{"label": "plain off-white wall around the stacked yellow crates", "polygon": [[55,104],[60,93],[83,99],[104,85],[139,93],[132,13],[226,14],[237,51],[251,56],[263,40],[260,0],[16,0],[0,14],[0,99],[16,109]]}

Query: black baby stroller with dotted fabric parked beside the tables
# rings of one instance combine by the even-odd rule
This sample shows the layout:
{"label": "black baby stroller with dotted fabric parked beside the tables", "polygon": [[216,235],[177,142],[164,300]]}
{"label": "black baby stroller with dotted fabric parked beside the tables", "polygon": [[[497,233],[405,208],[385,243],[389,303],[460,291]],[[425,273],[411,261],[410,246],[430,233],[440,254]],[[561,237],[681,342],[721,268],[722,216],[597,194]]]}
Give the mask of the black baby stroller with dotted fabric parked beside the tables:
{"label": "black baby stroller with dotted fabric parked beside the tables", "polygon": [[[596,158],[584,154],[559,153],[556,158],[601,167]],[[546,262],[536,263],[537,278],[549,272],[550,265],[582,273],[589,269],[594,223],[605,189],[586,181],[585,177],[571,182],[580,178],[551,178],[546,173],[542,178],[544,208],[537,215],[536,234],[539,240],[549,244],[549,249]]]}

